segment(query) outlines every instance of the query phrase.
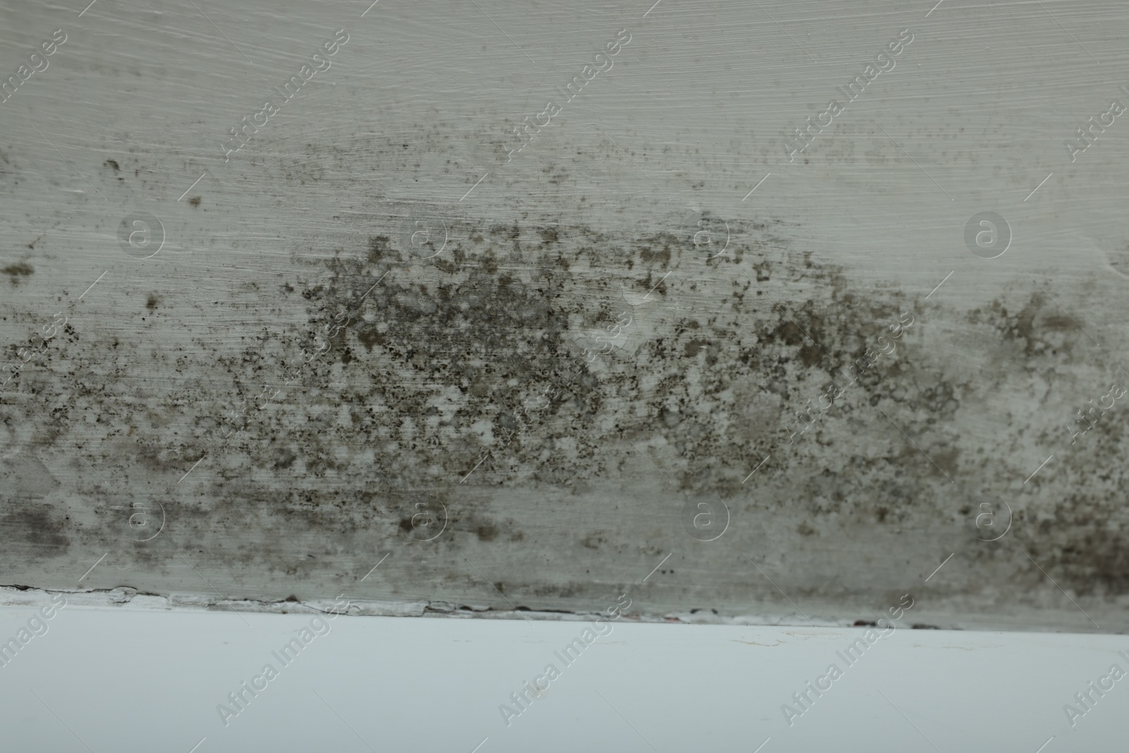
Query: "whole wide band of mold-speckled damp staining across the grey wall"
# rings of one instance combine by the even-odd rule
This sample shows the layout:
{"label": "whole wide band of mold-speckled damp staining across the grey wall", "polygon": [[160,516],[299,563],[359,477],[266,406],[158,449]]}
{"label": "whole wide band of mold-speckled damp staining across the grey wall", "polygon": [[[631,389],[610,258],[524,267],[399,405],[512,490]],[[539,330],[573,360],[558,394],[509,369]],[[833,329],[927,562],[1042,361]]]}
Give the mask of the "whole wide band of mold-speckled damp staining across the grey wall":
{"label": "whole wide band of mold-speckled damp staining across the grey wall", "polygon": [[[616,231],[532,214],[448,218],[447,246],[423,260],[404,243],[402,213],[375,226],[351,245],[296,251],[277,282],[233,286],[226,313],[244,317],[250,301],[268,301],[279,318],[265,326],[157,349],[68,325],[8,397],[12,446],[27,443],[71,472],[99,470],[76,487],[72,519],[34,518],[46,526],[35,540],[41,557],[62,555],[75,541],[121,545],[130,567],[159,579],[173,577],[176,552],[207,548],[208,561],[268,572],[305,597],[349,552],[392,543],[404,572],[418,568],[396,581],[374,576],[380,593],[430,598],[483,588],[465,562],[492,573],[500,566],[489,564],[491,551],[504,560],[548,551],[559,572],[517,578],[501,568],[496,585],[518,605],[549,608],[603,593],[572,560],[646,575],[682,541],[673,510],[702,499],[725,502],[734,542],[809,558],[804,571],[823,575],[787,587],[805,604],[844,590],[885,598],[896,588],[821,559],[829,546],[877,537],[896,548],[916,535],[907,532],[938,525],[948,526],[940,535],[949,551],[980,567],[1014,567],[1040,588],[1036,570],[1007,564],[960,532],[974,516],[966,500],[1000,475],[990,443],[961,427],[971,415],[999,417],[1001,432],[1015,431],[1023,420],[999,394],[1053,405],[1066,395],[1040,392],[1039,375],[1092,358],[1041,291],[1015,286],[959,315],[925,301],[926,290],[877,286],[864,295],[843,268],[804,251],[793,224],[772,217],[730,222],[729,249],[711,260],[679,228]],[[154,315],[181,299],[143,296]],[[813,409],[910,317],[894,352],[825,411]],[[630,324],[612,336],[618,322]],[[970,352],[989,356],[973,367],[939,354],[937,338],[954,326]],[[593,352],[601,332],[613,342],[606,353]],[[117,384],[133,384],[142,400],[110,400],[95,367],[107,357],[175,376],[168,385],[122,376]],[[1112,499],[1119,483],[1119,472],[1084,471],[1122,446],[1118,426],[1105,423],[1087,437],[1093,455],[1076,453],[1076,491],[1015,500],[1008,542],[1073,593],[1119,598],[1129,594],[1120,514],[1079,501]],[[1032,422],[1030,431],[1045,429]],[[67,449],[76,445],[80,457]],[[1067,482],[1040,480],[1049,489]],[[36,493],[61,504],[59,489]],[[115,501],[138,497],[169,510],[167,529],[146,544],[123,540],[128,515]],[[610,525],[584,524],[601,516]],[[30,524],[14,519],[14,529]],[[296,536],[309,542],[297,557],[287,544]],[[702,595],[674,564],[651,578],[669,589],[657,604],[672,608],[680,594]],[[727,572],[706,593],[732,614],[738,607],[726,594],[762,584],[755,570]],[[625,575],[614,579],[629,586]],[[769,611],[778,601],[771,592],[758,598]]]}

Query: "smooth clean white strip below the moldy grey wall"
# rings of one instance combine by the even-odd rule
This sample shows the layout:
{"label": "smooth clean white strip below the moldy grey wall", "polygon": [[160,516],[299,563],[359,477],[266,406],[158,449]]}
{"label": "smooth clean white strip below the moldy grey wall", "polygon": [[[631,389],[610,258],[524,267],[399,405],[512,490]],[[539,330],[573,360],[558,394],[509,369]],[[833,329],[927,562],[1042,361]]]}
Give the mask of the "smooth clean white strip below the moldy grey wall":
{"label": "smooth clean white strip below the moldy grey wall", "polygon": [[[28,601],[0,607],[5,640],[32,615]],[[1043,752],[1059,753],[1115,750],[1124,734],[1129,680],[1075,730],[1062,711],[1111,664],[1129,668],[1120,636],[899,629],[789,728],[780,706],[830,663],[843,668],[835,653],[864,629],[620,620],[507,727],[499,704],[560,666],[553,653],[587,623],[351,616],[225,727],[217,704],[278,666],[271,651],[314,616],[69,605],[0,667],[3,750],[187,753],[204,738],[199,753],[471,753],[485,738],[481,753],[751,753],[769,738],[761,753],[1035,753],[1048,739]]]}

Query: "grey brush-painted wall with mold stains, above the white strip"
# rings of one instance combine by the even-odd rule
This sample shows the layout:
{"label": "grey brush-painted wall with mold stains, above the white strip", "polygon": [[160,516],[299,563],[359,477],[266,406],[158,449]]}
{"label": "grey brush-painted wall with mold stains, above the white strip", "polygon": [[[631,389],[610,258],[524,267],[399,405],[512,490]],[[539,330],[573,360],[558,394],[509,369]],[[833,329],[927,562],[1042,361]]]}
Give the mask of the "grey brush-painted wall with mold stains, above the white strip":
{"label": "grey brush-painted wall with mold stains, above the white strip", "polygon": [[0,583],[1129,628],[1123,3],[651,2],[0,3]]}

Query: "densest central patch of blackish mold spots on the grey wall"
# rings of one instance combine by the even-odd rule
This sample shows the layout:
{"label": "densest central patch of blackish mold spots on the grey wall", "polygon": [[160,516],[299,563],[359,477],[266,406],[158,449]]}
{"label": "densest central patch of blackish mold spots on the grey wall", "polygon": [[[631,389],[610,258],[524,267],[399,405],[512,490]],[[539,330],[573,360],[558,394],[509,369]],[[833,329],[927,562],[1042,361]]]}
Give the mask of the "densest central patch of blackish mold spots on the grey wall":
{"label": "densest central patch of blackish mold spots on the grey wall", "polygon": [[[387,484],[382,494],[421,480],[575,485],[648,472],[638,446],[660,438],[671,448],[662,464],[679,490],[732,497],[750,461],[787,437],[803,391],[860,358],[873,336],[864,327],[881,332],[901,308],[893,294],[856,298],[838,269],[793,254],[784,233],[778,222],[735,226],[733,253],[709,260],[734,271],[712,289],[699,288],[703,262],[676,233],[624,238],[559,220],[452,227],[447,249],[426,261],[401,249],[395,233],[375,234],[364,248],[309,263],[294,286],[307,330],[324,332],[334,353],[314,361],[304,388],[332,384],[332,399],[304,406],[309,421],[287,429],[250,411],[244,436],[286,432],[295,438],[287,470],[296,478],[368,475]],[[762,272],[738,266],[743,257]],[[764,284],[774,295],[759,295]],[[629,294],[653,303],[636,310]],[[682,313],[701,299],[716,306]],[[630,350],[592,361],[575,344],[624,316],[654,322]],[[228,365],[238,383],[260,378],[263,349]],[[331,367],[340,369],[332,383]],[[881,394],[878,371],[856,392]],[[651,386],[640,389],[645,377]],[[947,404],[955,393],[938,395],[928,403]],[[858,410],[858,401],[841,406],[840,420]],[[370,473],[359,458],[341,458],[342,437],[371,453]],[[252,452],[256,465],[279,467],[277,456]],[[848,483],[859,491],[867,481]],[[813,492],[823,500],[813,513],[840,506],[835,492]],[[324,491],[307,493],[324,504],[315,501]],[[899,507],[875,500],[867,519],[879,506]]]}

